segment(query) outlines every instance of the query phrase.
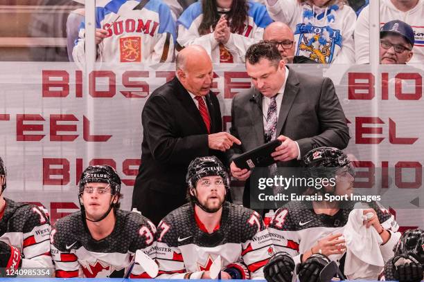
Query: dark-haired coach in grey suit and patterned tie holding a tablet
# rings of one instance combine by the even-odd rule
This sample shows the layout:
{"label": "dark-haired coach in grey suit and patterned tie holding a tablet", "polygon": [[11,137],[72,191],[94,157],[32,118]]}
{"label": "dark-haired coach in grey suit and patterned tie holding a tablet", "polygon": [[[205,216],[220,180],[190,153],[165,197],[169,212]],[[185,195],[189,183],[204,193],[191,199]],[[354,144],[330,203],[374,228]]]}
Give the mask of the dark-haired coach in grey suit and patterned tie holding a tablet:
{"label": "dark-haired coach in grey suit and patterned tie holding a tablet", "polygon": [[[242,144],[229,150],[230,162],[240,153],[274,139],[283,142],[272,153],[278,167],[299,167],[300,158],[313,148],[346,148],[346,117],[330,79],[289,69],[279,50],[268,41],[250,46],[246,70],[254,88],[233,98],[230,132]],[[234,162],[230,169],[239,180],[247,180],[251,173]],[[243,194],[247,207],[249,193],[247,180]]]}

